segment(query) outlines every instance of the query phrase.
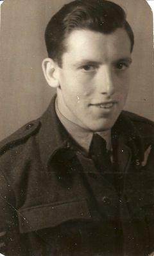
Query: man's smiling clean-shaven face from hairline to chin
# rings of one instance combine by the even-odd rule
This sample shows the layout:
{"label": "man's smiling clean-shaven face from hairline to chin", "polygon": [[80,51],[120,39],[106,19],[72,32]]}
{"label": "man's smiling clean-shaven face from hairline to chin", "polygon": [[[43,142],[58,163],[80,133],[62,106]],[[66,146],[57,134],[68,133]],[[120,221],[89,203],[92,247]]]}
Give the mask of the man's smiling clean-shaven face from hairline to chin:
{"label": "man's smiling clean-shaven face from hairline to chin", "polygon": [[57,67],[58,108],[91,131],[112,128],[129,88],[130,39],[123,28],[112,34],[74,30]]}

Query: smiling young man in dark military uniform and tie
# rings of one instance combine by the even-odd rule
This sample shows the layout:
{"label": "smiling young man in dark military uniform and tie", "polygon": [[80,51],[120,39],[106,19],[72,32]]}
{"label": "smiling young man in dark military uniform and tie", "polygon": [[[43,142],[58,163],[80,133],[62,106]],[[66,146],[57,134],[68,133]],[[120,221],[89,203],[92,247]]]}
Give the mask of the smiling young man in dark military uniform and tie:
{"label": "smiling young man in dark military uniform and tie", "polygon": [[76,0],[46,28],[56,88],[46,113],[1,143],[4,255],[154,251],[154,126],[123,112],[133,32],[110,1]]}

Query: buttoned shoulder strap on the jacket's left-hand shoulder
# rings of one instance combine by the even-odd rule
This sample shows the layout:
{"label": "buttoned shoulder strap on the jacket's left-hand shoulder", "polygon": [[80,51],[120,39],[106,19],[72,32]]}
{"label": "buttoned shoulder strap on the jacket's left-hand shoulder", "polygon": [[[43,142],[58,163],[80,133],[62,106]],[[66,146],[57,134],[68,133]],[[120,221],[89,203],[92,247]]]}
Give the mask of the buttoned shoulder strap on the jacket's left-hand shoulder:
{"label": "buttoned shoulder strap on the jacket's left-hand shoulder", "polygon": [[39,129],[40,121],[37,119],[24,124],[19,130],[6,137],[6,139],[3,139],[3,141],[0,142],[0,157],[4,153],[13,150],[13,148],[25,144],[29,138],[39,132]]}

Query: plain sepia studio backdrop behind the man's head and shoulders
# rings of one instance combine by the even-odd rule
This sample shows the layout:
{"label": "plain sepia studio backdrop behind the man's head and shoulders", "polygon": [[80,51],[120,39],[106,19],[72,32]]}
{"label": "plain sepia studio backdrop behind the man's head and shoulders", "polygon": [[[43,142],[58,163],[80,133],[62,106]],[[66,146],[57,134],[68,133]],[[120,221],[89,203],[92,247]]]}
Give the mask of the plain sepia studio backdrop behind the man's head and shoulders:
{"label": "plain sepia studio backdrop behind the man's head and shoulders", "polygon": [[[135,34],[125,109],[154,120],[153,22],[146,0],[113,0]],[[67,0],[5,0],[1,5],[0,140],[46,110],[55,90],[42,74],[47,22]]]}

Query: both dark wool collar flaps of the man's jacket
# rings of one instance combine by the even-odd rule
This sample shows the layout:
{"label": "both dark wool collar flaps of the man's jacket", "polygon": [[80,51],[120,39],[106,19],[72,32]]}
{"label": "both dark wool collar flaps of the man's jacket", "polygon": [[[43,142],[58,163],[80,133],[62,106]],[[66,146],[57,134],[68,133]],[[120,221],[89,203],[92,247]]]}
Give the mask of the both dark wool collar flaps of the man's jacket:
{"label": "both dark wool collar flaps of the man's jacket", "polygon": [[[67,149],[66,152],[70,148],[76,148],[78,150],[78,146],[76,147],[76,144],[73,143],[73,139],[56,115],[55,99],[56,95],[51,100],[46,112],[39,119],[41,127],[38,135],[38,143],[42,164],[46,168],[53,155],[59,150]],[[132,121],[123,112],[119,115],[116,124],[112,128],[112,141],[123,141],[124,144],[128,144],[132,148],[135,157],[139,161],[142,161],[144,156],[142,139]],[[67,154],[69,158],[74,156],[74,152],[71,154],[71,151],[73,152],[73,150],[69,150],[69,154]]]}

